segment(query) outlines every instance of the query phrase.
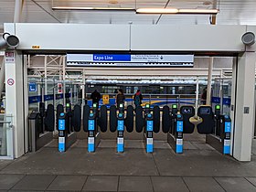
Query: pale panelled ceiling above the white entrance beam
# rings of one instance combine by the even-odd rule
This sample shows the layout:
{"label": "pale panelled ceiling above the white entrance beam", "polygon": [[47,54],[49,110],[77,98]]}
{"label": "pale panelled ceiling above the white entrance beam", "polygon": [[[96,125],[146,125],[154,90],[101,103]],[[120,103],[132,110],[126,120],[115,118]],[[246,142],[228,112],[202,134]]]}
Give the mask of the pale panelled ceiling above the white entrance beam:
{"label": "pale panelled ceiling above the white entrance beam", "polygon": [[[217,25],[256,25],[256,0],[24,0],[21,22],[85,24],[209,24],[209,16],[136,15],[134,12],[53,11],[52,6],[219,8]],[[0,32],[13,22],[15,0],[0,1]]]}

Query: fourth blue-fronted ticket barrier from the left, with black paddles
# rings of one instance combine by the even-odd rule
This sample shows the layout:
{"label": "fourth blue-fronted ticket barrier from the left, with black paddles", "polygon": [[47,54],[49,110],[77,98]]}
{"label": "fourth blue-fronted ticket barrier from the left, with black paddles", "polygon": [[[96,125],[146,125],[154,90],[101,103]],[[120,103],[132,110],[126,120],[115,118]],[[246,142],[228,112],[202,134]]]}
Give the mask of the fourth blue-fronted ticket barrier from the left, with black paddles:
{"label": "fourth blue-fronted ticket barrier from the left, with black paddles", "polygon": [[135,109],[136,132],[141,133],[144,130],[144,145],[146,153],[154,152],[153,133],[160,130],[160,108],[154,106],[152,109],[150,104],[146,104],[143,109],[141,106]]}

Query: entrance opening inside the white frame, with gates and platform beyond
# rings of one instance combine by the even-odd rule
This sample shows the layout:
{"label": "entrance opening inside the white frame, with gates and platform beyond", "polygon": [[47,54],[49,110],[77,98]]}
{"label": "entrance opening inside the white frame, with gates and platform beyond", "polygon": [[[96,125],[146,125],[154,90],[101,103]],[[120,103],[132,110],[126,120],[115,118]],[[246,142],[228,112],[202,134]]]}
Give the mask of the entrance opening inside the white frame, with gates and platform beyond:
{"label": "entrance opening inside the white frame, with gates and platform beyond", "polygon": [[[132,69],[135,75],[125,73],[126,69],[131,70],[131,67],[126,67],[119,69],[122,75],[116,75],[109,71],[116,69],[108,67],[110,62],[99,63],[101,69],[95,69],[97,64],[91,62],[94,66],[90,69],[83,66],[86,60],[73,60],[70,67],[65,55],[25,57],[27,65],[29,63],[28,150],[31,152],[49,142],[58,146],[60,152],[65,152],[79,140],[88,152],[97,151],[97,146],[107,141],[116,152],[124,152],[126,143],[128,147],[129,143],[136,143],[137,147],[144,143],[147,153],[153,153],[154,146],[165,145],[177,154],[186,153],[186,149],[199,150],[202,147],[230,154],[229,72],[232,57],[215,58],[210,71],[213,77],[210,77],[208,105],[205,95],[208,57],[193,56],[190,65],[194,68],[182,68],[183,61],[176,60],[179,68],[165,66],[167,72],[164,75],[147,73],[149,69],[163,73],[161,67],[147,67],[145,71]],[[112,54],[108,57],[112,57]],[[154,64],[157,62],[151,62],[151,65]],[[38,69],[39,66],[44,68]],[[99,103],[93,103],[91,99],[91,93],[95,90],[101,93]],[[120,90],[125,99],[118,105],[116,97]],[[143,95],[139,106],[134,101],[137,90]]]}

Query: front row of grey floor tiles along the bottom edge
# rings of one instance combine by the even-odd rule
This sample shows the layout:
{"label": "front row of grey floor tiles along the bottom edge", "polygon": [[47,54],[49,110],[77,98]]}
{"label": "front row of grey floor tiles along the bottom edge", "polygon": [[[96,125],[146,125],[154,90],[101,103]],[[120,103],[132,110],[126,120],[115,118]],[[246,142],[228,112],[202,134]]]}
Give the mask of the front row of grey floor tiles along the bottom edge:
{"label": "front row of grey floor tiles along the bottom edge", "polygon": [[256,191],[250,179],[244,177],[37,175],[21,177],[13,186],[3,186],[1,182],[1,191]]}

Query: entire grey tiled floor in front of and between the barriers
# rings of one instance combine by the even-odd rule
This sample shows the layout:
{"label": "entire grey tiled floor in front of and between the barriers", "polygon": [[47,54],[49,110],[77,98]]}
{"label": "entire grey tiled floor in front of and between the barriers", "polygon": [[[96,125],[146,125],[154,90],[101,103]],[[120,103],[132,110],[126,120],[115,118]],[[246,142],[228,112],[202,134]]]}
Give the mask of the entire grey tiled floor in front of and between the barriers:
{"label": "entire grey tiled floor in front of and between the barriers", "polygon": [[125,144],[123,154],[115,152],[115,141],[102,141],[92,154],[85,141],[62,154],[49,144],[0,161],[0,191],[256,191],[256,155],[241,163],[200,140],[185,142],[183,155],[165,142],[155,142],[153,154],[142,141]]}

